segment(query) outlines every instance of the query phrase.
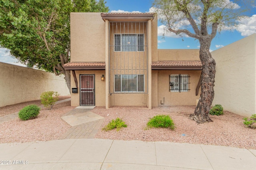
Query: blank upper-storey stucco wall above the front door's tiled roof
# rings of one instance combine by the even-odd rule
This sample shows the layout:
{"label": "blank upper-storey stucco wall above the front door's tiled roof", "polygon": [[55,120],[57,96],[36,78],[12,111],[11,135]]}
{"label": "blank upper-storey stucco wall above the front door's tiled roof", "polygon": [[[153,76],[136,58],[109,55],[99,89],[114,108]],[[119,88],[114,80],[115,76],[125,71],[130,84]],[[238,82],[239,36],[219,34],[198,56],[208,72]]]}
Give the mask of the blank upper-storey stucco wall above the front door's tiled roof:
{"label": "blank upper-storey stucco wall above the front door's tiled roof", "polygon": [[105,61],[105,22],[100,13],[70,13],[71,62]]}

